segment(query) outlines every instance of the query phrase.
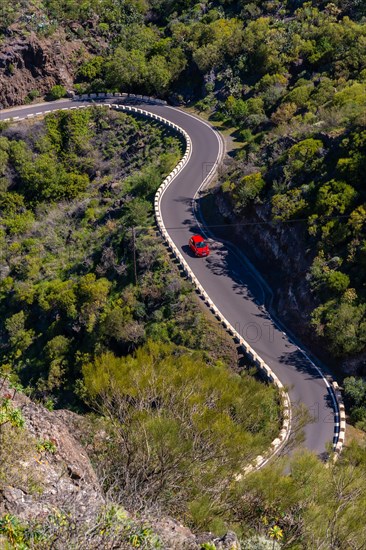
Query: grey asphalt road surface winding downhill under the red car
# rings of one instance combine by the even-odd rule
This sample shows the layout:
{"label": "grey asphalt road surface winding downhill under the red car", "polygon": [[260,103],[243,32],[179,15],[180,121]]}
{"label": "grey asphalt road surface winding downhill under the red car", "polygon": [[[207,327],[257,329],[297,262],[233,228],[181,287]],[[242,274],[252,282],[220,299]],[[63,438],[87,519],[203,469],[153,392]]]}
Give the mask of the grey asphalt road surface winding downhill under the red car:
{"label": "grey asphalt road surface winding downhill under the red car", "polygon": [[[85,102],[63,100],[17,107],[0,111],[0,120],[83,104]],[[166,229],[222,314],[288,387],[292,406],[304,404],[308,409],[314,421],[305,427],[303,444],[325,457],[326,444],[335,442],[337,410],[333,394],[320,371],[266,312],[266,289],[260,279],[248,269],[248,264],[234,247],[219,240],[212,240],[211,255],[207,259],[192,257],[187,246],[190,235],[200,232],[193,198],[220,156],[219,135],[205,122],[178,109],[145,104],[142,108],[179,125],[192,140],[188,164],[165,191],[161,201]]]}

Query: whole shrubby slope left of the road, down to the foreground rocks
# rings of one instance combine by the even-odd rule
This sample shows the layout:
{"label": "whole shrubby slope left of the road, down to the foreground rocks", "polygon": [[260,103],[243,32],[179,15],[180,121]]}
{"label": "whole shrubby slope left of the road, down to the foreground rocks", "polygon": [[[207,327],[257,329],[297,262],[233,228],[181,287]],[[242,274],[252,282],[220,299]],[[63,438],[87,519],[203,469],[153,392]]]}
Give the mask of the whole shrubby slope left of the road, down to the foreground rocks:
{"label": "whole shrubby slope left of the road, down to the foreground rocks", "polygon": [[279,397],[238,363],[156,235],[154,193],[181,142],[94,107],[4,123],[0,144],[2,376],[83,413],[110,502],[224,533],[231,480],[277,436]]}

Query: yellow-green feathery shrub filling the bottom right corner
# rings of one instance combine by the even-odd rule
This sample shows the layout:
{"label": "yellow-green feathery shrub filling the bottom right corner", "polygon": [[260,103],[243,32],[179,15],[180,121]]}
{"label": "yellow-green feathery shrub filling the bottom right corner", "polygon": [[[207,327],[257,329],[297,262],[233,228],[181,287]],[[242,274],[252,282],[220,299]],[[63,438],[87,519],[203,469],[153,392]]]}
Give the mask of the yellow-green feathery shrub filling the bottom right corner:
{"label": "yellow-green feathery shrub filling the bottom right corner", "polygon": [[278,463],[249,476],[235,489],[242,499],[238,520],[247,524],[256,518],[268,535],[277,526],[288,548],[362,548],[365,451],[353,444],[327,466],[303,451],[290,460],[286,473]]}

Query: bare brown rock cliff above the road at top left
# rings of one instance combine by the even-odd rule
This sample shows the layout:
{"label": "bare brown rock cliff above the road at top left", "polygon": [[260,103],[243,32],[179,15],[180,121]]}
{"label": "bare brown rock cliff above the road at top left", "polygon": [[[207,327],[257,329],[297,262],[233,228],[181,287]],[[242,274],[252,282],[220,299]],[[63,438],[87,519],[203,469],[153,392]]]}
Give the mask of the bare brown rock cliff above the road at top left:
{"label": "bare brown rock cliff above the road at top left", "polygon": [[0,45],[0,105],[23,104],[29,93],[42,96],[55,84],[71,88],[81,51],[83,43],[67,40],[63,30],[52,38],[13,33]]}

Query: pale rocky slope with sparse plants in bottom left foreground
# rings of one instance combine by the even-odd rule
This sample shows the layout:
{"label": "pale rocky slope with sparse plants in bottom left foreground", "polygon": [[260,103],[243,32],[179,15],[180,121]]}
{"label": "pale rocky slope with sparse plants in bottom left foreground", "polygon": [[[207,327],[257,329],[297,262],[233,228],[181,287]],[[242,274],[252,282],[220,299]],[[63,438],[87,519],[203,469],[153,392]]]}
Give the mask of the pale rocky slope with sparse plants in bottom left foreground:
{"label": "pale rocky slope with sparse plants in bottom left foreground", "polygon": [[71,411],[46,409],[0,379],[1,548],[199,550],[216,538],[229,550],[238,543],[230,532],[196,536],[156,506],[133,514],[110,500],[78,441],[83,422]]}

